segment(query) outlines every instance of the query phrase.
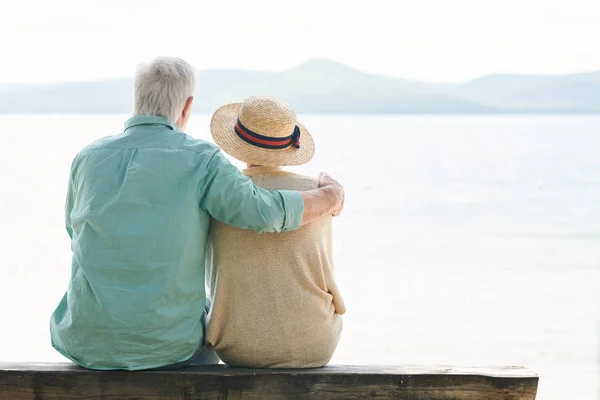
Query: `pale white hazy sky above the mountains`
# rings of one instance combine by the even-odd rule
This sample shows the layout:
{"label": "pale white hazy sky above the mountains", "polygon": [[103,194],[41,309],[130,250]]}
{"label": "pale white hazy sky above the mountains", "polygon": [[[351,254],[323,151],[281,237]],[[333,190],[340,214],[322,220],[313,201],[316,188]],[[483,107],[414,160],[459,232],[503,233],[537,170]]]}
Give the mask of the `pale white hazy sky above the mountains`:
{"label": "pale white hazy sky above the mountains", "polygon": [[0,82],[130,76],[156,55],[283,70],[327,57],[462,81],[600,70],[600,0],[0,0]]}

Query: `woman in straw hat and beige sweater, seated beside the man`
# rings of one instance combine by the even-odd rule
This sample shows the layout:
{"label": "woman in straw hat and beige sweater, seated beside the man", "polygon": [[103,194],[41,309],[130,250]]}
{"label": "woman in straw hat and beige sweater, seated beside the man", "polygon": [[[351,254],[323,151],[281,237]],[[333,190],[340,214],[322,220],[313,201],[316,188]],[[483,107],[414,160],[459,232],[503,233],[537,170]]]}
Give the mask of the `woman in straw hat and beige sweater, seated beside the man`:
{"label": "woman in straw hat and beige sweater, seated beside the man", "polygon": [[[318,180],[282,170],[308,162],[314,142],[285,103],[252,97],[221,107],[215,142],[269,190],[310,190]],[[312,368],[329,362],[346,311],[333,277],[331,216],[294,232],[255,233],[212,220],[207,265],[213,308],[206,342],[227,364]]]}

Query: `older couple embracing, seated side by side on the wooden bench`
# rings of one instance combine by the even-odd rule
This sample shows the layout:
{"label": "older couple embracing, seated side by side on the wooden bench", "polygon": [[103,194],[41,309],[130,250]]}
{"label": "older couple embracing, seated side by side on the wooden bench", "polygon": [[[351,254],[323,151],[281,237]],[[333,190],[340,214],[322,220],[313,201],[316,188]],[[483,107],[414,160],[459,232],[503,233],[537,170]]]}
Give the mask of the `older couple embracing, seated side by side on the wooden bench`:
{"label": "older couple embracing, seated side by side on the wooden bench", "polygon": [[331,238],[343,188],[327,174],[280,168],[308,162],[314,143],[288,105],[267,97],[212,117],[214,141],[247,164],[240,172],[217,146],[183,133],[195,88],[181,59],[141,66],[124,132],[74,158],[71,280],[51,318],[52,345],[98,370],[219,358],[323,366],[345,312]]}

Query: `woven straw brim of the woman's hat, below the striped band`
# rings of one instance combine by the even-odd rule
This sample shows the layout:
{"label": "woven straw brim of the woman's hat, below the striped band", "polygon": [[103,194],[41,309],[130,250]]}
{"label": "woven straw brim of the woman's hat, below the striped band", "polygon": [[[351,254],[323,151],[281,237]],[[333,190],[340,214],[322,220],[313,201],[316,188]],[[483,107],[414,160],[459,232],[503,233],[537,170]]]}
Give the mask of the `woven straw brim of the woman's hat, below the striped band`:
{"label": "woven straw brim of the woman's hat, below the striped band", "polygon": [[210,121],[210,134],[224,152],[245,163],[267,167],[302,165],[313,158],[315,143],[310,133],[299,122],[296,122],[300,128],[299,149],[294,146],[285,149],[264,149],[240,139],[233,127],[241,106],[242,103],[227,104],[215,111]]}

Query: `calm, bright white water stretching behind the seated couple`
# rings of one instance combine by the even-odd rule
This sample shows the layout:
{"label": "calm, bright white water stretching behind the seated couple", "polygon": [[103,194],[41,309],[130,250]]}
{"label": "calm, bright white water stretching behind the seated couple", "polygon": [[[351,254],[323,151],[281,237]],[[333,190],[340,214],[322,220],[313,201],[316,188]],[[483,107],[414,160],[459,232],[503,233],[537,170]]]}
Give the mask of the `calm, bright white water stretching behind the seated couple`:
{"label": "calm, bright white water stretching behind the seated couple", "polygon": [[[0,360],[61,361],[69,166],[126,116],[0,116]],[[208,116],[188,131],[208,138]],[[346,187],[333,363],[526,365],[600,399],[600,117],[307,116]]]}

